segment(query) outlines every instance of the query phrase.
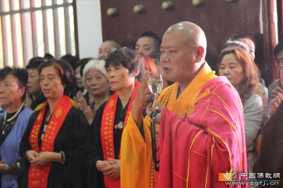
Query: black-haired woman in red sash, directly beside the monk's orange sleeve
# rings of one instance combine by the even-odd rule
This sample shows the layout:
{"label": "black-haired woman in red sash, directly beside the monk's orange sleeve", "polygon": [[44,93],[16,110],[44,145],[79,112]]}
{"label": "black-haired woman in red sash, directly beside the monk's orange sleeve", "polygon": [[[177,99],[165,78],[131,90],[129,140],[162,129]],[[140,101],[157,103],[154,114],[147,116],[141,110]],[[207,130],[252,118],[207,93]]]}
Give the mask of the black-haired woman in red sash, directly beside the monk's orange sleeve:
{"label": "black-haired woman in red sash, directly beside the monk's orange sleeve", "polygon": [[96,111],[92,123],[93,150],[87,155],[89,187],[120,187],[120,143],[143,72],[143,57],[120,48],[107,60],[107,78],[115,93]]}

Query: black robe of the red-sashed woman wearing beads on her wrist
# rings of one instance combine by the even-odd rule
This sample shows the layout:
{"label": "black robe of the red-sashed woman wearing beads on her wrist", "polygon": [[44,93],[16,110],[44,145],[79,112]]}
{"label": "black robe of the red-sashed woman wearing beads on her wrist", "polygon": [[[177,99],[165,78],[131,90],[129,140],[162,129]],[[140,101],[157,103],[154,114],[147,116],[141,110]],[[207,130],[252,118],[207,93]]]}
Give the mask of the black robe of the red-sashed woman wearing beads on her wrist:
{"label": "black robe of the red-sashed woman wearing beads on her wrist", "polygon": [[[47,112],[44,113],[44,119]],[[28,127],[22,138],[20,145],[20,154],[22,156],[21,168],[17,177],[19,187],[28,187],[28,172],[30,162],[25,159],[26,151],[30,150],[29,134],[39,111],[34,112],[28,123]],[[44,121],[39,135],[43,133]],[[52,162],[48,175],[47,187],[85,187],[85,166],[84,150],[89,139],[89,126],[82,111],[72,107],[66,116],[61,129],[59,130],[54,144],[54,152],[63,151],[66,155],[65,163]],[[39,146],[41,145],[41,136],[39,136]]]}

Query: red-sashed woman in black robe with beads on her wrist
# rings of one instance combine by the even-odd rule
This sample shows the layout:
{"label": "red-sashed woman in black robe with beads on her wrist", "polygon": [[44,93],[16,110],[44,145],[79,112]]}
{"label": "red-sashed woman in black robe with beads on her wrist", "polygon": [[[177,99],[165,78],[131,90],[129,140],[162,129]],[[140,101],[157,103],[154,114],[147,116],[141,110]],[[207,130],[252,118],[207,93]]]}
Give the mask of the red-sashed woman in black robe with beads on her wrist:
{"label": "red-sashed woman in black robe with beads on her wrist", "polygon": [[72,85],[74,72],[64,61],[52,59],[39,68],[40,86],[47,98],[32,114],[20,153],[21,187],[83,187],[83,151],[87,133],[84,114],[72,106],[64,89]]}

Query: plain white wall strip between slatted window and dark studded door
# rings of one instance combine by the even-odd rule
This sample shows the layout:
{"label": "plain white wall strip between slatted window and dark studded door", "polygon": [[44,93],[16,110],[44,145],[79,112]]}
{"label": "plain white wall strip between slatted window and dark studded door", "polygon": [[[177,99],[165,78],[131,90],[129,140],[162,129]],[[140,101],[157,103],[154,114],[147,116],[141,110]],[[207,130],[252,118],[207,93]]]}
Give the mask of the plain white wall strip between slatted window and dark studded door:
{"label": "plain white wall strip between slatted window and dark studded door", "polygon": [[80,58],[97,57],[102,43],[100,0],[77,0]]}

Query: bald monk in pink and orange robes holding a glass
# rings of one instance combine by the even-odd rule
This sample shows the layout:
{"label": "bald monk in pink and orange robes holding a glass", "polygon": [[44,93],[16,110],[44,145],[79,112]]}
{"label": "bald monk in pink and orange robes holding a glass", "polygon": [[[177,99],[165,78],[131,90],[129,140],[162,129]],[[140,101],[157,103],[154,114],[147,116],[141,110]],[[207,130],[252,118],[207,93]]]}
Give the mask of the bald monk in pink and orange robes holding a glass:
{"label": "bald monk in pink and orange robes holding a glass", "polygon": [[208,66],[206,45],[203,30],[190,22],[165,32],[160,61],[164,77],[175,83],[157,102],[159,171],[152,162],[151,120],[141,115],[153,97],[144,78],[122,135],[121,187],[229,187],[218,181],[218,173],[247,172],[241,99],[228,79]]}

